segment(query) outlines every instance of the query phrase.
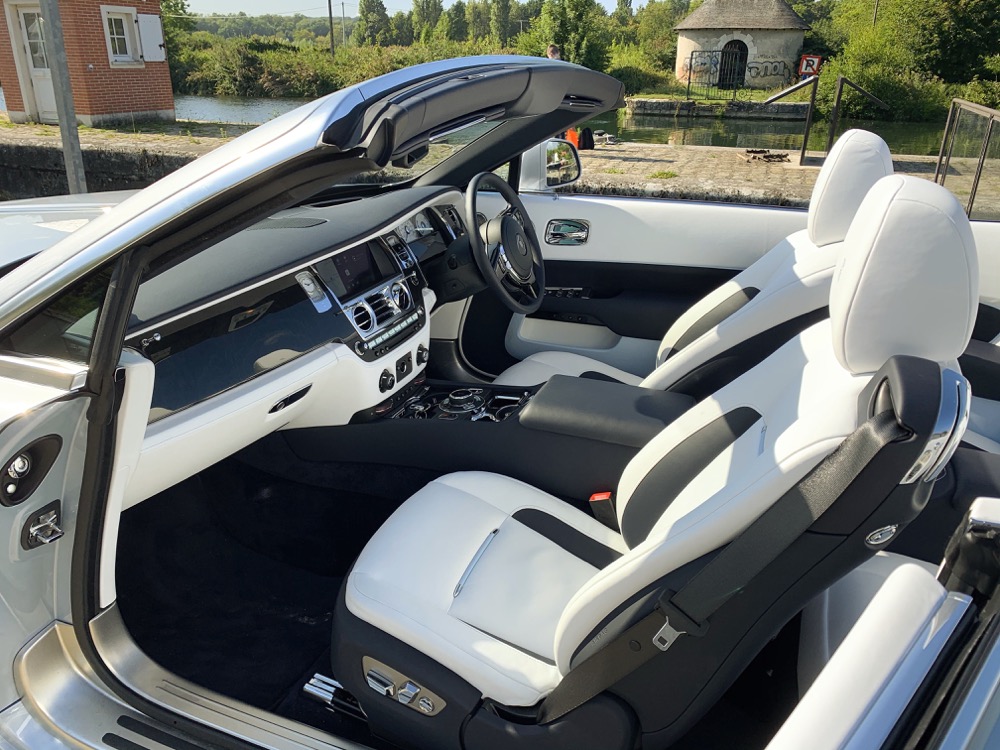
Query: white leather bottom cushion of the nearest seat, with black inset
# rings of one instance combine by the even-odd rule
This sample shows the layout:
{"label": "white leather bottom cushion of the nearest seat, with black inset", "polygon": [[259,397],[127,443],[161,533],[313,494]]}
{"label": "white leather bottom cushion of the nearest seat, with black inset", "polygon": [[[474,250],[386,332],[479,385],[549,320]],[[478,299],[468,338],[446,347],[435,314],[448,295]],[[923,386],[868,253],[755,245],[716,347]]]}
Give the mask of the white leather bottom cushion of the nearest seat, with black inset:
{"label": "white leather bottom cushion of the nearest seat, with black inset", "polygon": [[551,495],[460,472],[428,484],[382,525],[345,598],[353,615],[484,696],[530,706],[562,679],[553,644],[567,602],[625,551],[618,534]]}

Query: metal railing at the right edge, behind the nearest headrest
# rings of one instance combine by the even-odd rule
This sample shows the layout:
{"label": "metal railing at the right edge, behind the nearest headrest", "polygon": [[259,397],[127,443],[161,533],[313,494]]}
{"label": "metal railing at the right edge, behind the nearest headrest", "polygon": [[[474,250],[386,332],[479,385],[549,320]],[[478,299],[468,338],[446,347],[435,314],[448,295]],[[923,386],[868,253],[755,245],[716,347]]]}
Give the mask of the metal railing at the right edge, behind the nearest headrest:
{"label": "metal railing at the right edge, behind the nearest headrest", "polygon": [[990,195],[976,204],[987,168],[1000,173],[1000,111],[965,99],[953,99],[934,169],[934,182],[944,185],[951,175],[953,179],[948,188],[959,198],[968,192],[965,211],[969,218],[1000,221],[1000,196]]}

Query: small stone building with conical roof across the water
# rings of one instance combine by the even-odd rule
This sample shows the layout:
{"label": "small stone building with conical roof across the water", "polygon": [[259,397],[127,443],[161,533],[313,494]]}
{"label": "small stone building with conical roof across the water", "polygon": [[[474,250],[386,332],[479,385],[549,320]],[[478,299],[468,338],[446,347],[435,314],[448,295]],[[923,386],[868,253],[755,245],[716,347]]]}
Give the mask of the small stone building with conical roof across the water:
{"label": "small stone building with conical roof across the water", "polygon": [[763,89],[794,78],[809,24],[785,0],[705,0],[674,28],[678,80]]}

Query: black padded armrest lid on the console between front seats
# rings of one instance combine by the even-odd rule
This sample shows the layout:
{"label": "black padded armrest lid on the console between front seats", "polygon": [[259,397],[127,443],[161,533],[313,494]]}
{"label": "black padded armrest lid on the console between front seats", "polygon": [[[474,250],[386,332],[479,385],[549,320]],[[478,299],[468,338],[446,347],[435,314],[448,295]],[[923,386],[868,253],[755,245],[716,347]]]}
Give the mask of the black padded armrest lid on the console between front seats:
{"label": "black padded armrest lid on the console between front seats", "polygon": [[641,448],[694,404],[683,393],[554,375],[519,421],[531,430]]}

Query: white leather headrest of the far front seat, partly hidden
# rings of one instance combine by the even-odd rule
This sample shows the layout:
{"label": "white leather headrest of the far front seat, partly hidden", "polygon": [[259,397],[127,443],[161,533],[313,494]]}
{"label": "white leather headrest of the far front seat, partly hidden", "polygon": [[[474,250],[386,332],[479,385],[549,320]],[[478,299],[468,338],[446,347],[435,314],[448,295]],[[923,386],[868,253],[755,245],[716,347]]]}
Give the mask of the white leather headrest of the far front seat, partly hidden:
{"label": "white leather headrest of the far front seat, partly hidden", "polygon": [[809,199],[806,230],[817,247],[843,242],[861,199],[892,174],[889,147],[867,130],[848,130],[833,144]]}

